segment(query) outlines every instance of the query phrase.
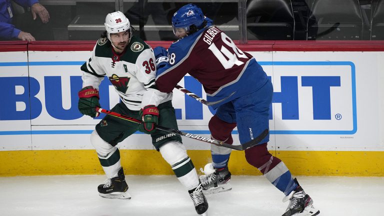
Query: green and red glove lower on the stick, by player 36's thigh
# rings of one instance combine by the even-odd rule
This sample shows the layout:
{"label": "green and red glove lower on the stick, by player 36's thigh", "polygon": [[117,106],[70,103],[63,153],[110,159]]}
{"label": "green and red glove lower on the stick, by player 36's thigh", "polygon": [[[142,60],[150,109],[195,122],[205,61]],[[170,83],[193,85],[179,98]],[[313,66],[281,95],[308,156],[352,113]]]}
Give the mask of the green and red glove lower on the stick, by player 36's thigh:
{"label": "green and red glove lower on the stick, by player 36's thigh", "polygon": [[138,130],[144,133],[152,133],[156,130],[158,124],[158,109],[155,105],[146,105],[140,109],[140,115],[143,123],[138,125]]}

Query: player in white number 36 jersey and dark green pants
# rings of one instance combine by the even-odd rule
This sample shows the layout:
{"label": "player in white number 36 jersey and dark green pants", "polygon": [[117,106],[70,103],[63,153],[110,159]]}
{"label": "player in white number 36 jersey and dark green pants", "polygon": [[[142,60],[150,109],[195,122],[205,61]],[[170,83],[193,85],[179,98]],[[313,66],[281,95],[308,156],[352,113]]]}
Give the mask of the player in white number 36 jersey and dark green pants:
{"label": "player in white number 36 jersey and dark green pants", "polygon": [[137,126],[106,115],[96,124],[90,141],[107,176],[105,183],[98,185],[99,195],[120,199],[131,197],[116,145],[140,130],[151,135],[153,146],[188,190],[196,212],[207,215],[208,203],[181,137],[155,127],[159,124],[177,129],[177,122],[171,103],[172,93],[162,93],[154,84],[156,65],[152,49],[132,35],[129,20],[122,12],[108,13],[104,25],[106,31],[96,42],[92,56],[81,66],[83,82],[78,93],[78,109],[82,114],[96,116],[95,107],[100,107],[98,87],[106,76],[120,97],[120,102],[111,110],[140,118],[143,123]]}

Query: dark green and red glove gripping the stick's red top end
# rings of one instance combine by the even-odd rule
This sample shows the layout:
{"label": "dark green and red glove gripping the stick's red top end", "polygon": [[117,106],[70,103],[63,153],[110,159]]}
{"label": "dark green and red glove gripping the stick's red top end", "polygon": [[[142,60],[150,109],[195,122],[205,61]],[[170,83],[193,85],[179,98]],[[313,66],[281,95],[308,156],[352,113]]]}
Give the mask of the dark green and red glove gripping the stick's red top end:
{"label": "dark green and red glove gripping the stick's red top end", "polygon": [[78,92],[78,110],[85,115],[89,115],[91,117],[97,116],[95,107],[100,107],[100,103],[98,99],[98,90],[94,89],[92,86],[83,87]]}

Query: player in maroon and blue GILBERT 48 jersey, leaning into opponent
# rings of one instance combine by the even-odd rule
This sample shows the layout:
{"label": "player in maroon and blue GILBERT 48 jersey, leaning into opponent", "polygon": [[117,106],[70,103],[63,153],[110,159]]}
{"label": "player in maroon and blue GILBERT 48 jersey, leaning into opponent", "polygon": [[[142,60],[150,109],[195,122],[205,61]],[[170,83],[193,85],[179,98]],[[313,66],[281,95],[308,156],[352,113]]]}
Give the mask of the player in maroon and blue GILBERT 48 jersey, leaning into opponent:
{"label": "player in maroon and blue GILBERT 48 jersey, leaning into opponent", "polygon": [[[194,4],[184,5],[173,14],[172,27],[179,39],[168,50],[154,49],[157,89],[171,92],[187,73],[196,78],[206,92],[207,101],[213,102],[216,109],[208,124],[214,139],[232,143],[231,131],[237,126],[240,143],[246,143],[269,128],[272,83],[254,57],[237,48]],[[268,152],[268,141],[269,135],[246,149],[246,161],[284,193],[283,200],[289,200],[283,216],[317,215],[320,211],[313,207],[313,200],[296,178],[293,179],[280,159]],[[212,172],[200,176],[205,191],[231,189],[227,166],[230,149],[211,145],[211,155]]]}

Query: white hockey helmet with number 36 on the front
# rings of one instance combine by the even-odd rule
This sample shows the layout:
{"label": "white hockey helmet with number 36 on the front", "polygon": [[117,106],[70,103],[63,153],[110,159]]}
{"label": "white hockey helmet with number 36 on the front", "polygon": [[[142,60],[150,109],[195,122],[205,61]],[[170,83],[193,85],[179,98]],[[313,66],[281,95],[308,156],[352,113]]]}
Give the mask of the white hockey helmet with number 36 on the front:
{"label": "white hockey helmet with number 36 on the front", "polygon": [[[120,11],[108,13],[105,17],[105,30],[109,40],[111,33],[119,33],[123,31],[129,32],[129,40],[132,37],[132,30],[128,18]],[[128,41],[129,42],[129,41]]]}

